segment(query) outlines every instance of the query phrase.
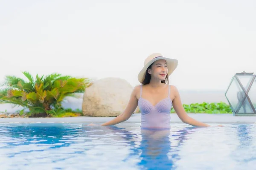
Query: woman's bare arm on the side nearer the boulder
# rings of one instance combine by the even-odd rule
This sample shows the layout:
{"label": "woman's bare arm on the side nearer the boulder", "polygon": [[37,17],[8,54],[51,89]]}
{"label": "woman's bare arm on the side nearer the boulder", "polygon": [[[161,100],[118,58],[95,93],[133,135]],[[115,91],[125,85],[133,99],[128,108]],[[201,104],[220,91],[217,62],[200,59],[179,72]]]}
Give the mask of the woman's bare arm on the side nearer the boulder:
{"label": "woman's bare arm on the side nearer the boulder", "polygon": [[134,113],[135,109],[138,106],[138,100],[137,100],[136,96],[139,92],[140,92],[140,86],[134,87],[134,89],[131,93],[128,105],[126,106],[123,113],[120,114],[119,116],[115,117],[111,121],[103,123],[102,126],[116,125],[118,123],[121,123],[121,122],[124,122],[124,121],[128,120],[131,117],[132,113]]}

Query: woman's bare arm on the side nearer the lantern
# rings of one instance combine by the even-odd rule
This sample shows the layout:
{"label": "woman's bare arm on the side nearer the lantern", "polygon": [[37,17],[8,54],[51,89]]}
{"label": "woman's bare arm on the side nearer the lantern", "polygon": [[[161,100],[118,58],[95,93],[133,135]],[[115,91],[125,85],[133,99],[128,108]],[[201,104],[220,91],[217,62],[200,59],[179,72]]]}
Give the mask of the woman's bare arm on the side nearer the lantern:
{"label": "woman's bare arm on the side nearer the lantern", "polygon": [[205,123],[199,122],[191,117],[189,117],[183,108],[183,105],[180,100],[180,94],[178,92],[178,89],[173,86],[174,89],[172,92],[175,94],[175,98],[172,101],[172,105],[174,110],[176,111],[177,115],[179,116],[180,120],[186,124],[192,125],[192,126],[210,126]]}

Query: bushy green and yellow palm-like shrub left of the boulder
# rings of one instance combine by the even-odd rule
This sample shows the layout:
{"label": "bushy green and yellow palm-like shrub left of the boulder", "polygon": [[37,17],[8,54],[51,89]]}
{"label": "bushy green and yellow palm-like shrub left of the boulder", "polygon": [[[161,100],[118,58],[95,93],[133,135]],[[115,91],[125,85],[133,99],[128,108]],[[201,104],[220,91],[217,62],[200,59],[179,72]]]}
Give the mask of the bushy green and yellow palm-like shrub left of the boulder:
{"label": "bushy green and yellow palm-like shrub left of the boulder", "polygon": [[23,106],[24,113],[29,109],[29,116],[64,116],[71,115],[61,107],[61,102],[66,96],[84,92],[90,85],[87,78],[74,78],[50,74],[44,77],[36,75],[32,77],[28,72],[23,72],[27,81],[15,76],[6,76],[5,82],[0,89],[0,103],[12,103]]}

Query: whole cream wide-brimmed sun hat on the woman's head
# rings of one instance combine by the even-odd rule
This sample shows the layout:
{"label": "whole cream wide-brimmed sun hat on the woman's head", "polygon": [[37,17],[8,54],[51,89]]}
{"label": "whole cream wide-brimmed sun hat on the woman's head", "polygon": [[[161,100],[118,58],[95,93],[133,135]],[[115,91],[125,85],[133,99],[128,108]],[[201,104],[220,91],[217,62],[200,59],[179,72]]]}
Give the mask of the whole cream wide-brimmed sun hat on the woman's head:
{"label": "whole cream wide-brimmed sun hat on the woman's head", "polygon": [[167,68],[168,68],[168,76],[170,76],[170,74],[172,74],[172,72],[177,68],[177,65],[178,65],[177,59],[166,58],[166,57],[163,57],[163,55],[160,53],[153,53],[145,59],[144,67],[138,74],[138,80],[140,83],[142,83],[143,80],[145,79],[145,75],[146,75],[148,66],[159,59],[166,60],[166,64],[167,64]]}

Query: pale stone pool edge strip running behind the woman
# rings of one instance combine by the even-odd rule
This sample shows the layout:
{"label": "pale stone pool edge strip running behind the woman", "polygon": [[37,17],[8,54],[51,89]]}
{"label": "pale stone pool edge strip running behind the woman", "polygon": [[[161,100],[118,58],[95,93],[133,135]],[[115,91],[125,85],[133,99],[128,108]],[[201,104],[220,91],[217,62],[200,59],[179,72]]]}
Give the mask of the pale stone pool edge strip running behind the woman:
{"label": "pale stone pool edge strip running behind the woman", "polygon": [[[187,113],[195,120],[204,123],[239,123],[256,124],[256,116],[233,116],[233,114],[207,114],[207,113]],[[140,123],[140,113],[133,114],[127,121],[129,123]],[[64,118],[0,118],[0,123],[97,123],[107,122],[114,117],[64,117]],[[171,114],[171,123],[183,123],[177,114]]]}

